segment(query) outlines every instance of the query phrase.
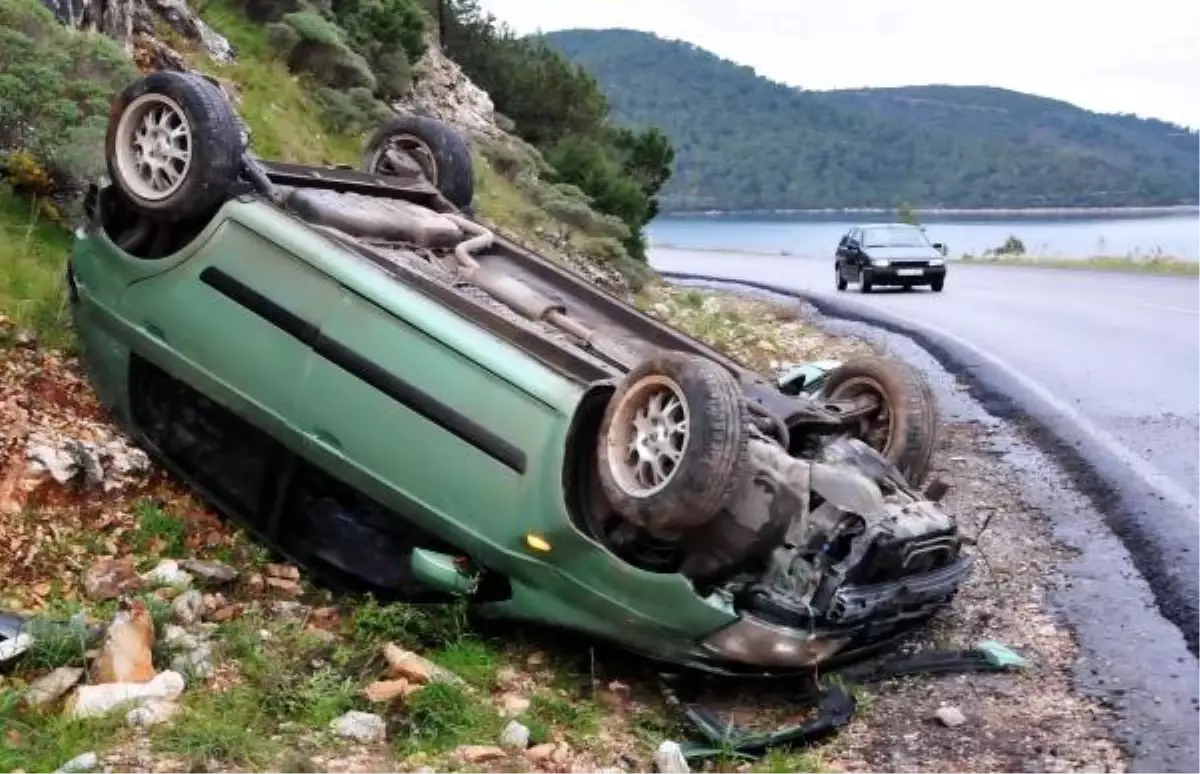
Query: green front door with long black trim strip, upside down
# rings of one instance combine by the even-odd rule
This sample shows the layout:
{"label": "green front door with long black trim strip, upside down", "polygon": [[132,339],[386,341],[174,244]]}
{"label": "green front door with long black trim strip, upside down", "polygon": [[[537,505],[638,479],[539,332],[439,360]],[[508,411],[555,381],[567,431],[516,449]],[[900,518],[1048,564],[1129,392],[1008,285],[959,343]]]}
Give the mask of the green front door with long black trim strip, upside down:
{"label": "green front door with long black trim strip, upside down", "polygon": [[371,298],[346,287],[313,347],[299,395],[312,458],[442,540],[468,548],[512,534],[518,524],[497,520],[521,512],[527,473],[544,473],[527,467],[548,448],[553,419],[504,373],[523,353],[379,282],[395,287]]}

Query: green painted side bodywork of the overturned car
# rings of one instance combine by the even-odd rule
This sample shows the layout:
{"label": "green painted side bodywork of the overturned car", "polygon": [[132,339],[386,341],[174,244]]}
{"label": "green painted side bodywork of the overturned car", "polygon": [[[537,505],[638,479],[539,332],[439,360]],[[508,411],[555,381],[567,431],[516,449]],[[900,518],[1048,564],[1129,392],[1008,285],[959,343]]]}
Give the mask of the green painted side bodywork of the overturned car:
{"label": "green painted side bodywork of the overturned car", "polygon": [[[564,454],[587,385],[384,281],[270,204],[232,200],[184,250],[156,260],[128,256],[103,229],[80,232],[71,271],[92,383],[143,443],[131,359],[193,385],[406,521],[487,557],[511,583],[497,613],[610,640],[619,630],[635,649],[684,661],[710,659],[703,640],[737,620],[686,578],[632,568],[572,523]],[[319,329],[320,342],[230,292],[269,298]],[[402,397],[346,367],[361,361]],[[527,535],[550,550],[530,547]]]}

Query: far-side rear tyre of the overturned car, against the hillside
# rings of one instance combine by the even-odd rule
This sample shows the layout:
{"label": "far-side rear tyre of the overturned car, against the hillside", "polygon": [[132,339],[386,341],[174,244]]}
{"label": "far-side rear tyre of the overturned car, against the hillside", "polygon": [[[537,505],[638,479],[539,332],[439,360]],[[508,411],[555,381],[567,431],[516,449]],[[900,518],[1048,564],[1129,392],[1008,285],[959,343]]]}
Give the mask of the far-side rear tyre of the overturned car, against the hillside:
{"label": "far-side rear tyre of the overturned car, against the hillside", "polygon": [[394,144],[421,168],[448,202],[460,209],[470,206],[475,198],[470,148],[454,127],[424,115],[397,115],[367,140],[362,154],[364,172],[396,175],[397,170],[384,156]]}

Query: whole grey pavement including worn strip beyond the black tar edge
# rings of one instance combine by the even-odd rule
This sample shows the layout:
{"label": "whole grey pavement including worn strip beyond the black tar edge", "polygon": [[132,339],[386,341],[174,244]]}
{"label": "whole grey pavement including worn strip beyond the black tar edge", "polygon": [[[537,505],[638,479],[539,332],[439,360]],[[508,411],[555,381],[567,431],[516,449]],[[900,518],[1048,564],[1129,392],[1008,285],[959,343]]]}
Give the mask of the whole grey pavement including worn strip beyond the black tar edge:
{"label": "whole grey pavement including worn strip beyond the black tar edge", "polygon": [[1042,486],[1081,551],[1056,594],[1087,654],[1080,686],[1122,712],[1134,770],[1200,764],[1200,281],[952,264],[941,294],[860,294],[834,289],[832,256],[654,250],[650,263],[911,340],[1022,427],[1043,460],[1025,476],[1056,466],[1078,492]]}

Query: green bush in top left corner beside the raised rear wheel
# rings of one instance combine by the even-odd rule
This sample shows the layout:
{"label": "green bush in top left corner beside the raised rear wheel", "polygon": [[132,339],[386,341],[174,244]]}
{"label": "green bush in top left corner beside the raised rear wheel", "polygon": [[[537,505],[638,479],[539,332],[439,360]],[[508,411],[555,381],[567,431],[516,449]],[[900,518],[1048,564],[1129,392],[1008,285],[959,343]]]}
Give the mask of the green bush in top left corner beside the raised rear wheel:
{"label": "green bush in top left corner beside the raised rear wheel", "polygon": [[0,0],[0,151],[48,173],[36,193],[103,170],[108,101],[136,76],[109,38],[59,25],[37,0]]}

